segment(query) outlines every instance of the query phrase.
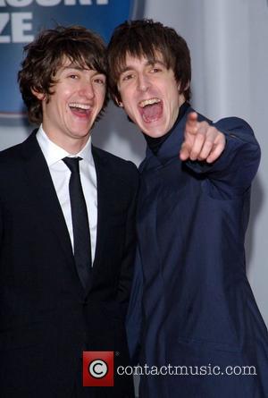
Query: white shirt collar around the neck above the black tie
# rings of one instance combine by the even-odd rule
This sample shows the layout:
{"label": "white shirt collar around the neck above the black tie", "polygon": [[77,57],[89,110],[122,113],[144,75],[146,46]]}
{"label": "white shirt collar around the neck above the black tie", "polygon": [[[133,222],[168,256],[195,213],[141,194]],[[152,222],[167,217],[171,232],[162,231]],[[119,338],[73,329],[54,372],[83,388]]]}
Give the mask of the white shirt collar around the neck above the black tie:
{"label": "white shirt collar around the neck above the black tie", "polygon": [[37,140],[40,148],[42,149],[44,157],[46,158],[46,163],[48,167],[59,162],[63,159],[63,157],[81,157],[89,164],[94,165],[91,150],[91,137],[89,137],[85,147],[82,148],[80,152],[75,155],[69,154],[65,149],[59,147],[52,140],[50,140],[46,135],[46,132],[43,130],[42,124],[40,125],[37,132]]}

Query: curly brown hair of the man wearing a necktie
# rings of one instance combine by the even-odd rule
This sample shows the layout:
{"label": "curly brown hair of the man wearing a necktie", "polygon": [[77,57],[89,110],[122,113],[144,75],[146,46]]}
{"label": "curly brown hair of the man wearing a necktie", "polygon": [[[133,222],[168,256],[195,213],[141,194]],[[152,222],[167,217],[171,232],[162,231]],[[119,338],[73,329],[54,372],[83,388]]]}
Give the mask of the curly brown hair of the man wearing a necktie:
{"label": "curly brown hair of the man wearing a necktie", "polygon": [[[43,112],[41,101],[32,90],[49,96],[53,95],[56,83],[54,76],[67,57],[71,63],[80,67],[96,70],[106,75],[105,42],[95,32],[82,26],[63,27],[43,30],[38,37],[26,47],[26,56],[21,63],[18,82],[22,99],[27,107],[29,121],[42,123]],[[106,93],[103,113],[108,102]]]}

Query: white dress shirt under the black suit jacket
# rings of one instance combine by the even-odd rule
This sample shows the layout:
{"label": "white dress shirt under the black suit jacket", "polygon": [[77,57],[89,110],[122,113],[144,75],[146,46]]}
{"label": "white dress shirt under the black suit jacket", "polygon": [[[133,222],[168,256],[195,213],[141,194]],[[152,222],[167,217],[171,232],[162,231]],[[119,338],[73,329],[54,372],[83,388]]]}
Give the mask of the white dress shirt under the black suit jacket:
{"label": "white dress shirt under the black suit jacket", "polygon": [[76,155],[71,155],[66,150],[58,147],[54,142],[49,140],[46,132],[43,130],[42,124],[38,129],[37,140],[46,163],[48,165],[54,189],[63,210],[63,216],[70,234],[71,245],[73,250],[73,232],[71,221],[71,201],[69,194],[69,181],[71,171],[63,162],[63,157],[81,157],[80,160],[80,179],[84,197],[88,209],[88,221],[90,229],[91,256],[92,265],[95,258],[96,250],[96,224],[97,224],[97,191],[96,191],[96,168],[91,151],[91,138],[86,146]]}

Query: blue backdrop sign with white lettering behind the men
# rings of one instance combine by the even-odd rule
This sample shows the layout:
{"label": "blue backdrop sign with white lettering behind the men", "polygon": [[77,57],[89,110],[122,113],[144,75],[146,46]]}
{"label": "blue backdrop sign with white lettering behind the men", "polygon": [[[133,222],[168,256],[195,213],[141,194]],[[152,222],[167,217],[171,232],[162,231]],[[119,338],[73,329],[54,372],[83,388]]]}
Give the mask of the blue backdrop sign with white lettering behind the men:
{"label": "blue backdrop sign with white lettering behind the men", "polygon": [[132,18],[137,8],[133,0],[0,0],[0,115],[23,114],[17,73],[23,47],[39,30],[80,24],[107,41],[114,27]]}

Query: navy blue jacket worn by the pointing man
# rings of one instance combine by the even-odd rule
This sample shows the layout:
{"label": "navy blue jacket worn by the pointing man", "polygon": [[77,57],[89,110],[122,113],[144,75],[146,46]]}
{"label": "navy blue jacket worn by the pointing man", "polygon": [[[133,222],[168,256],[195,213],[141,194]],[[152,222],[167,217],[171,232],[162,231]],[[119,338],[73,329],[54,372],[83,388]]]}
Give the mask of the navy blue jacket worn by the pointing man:
{"label": "navy blue jacket worn by the pointing man", "polygon": [[244,251],[260,148],[246,122],[226,118],[214,124],[227,143],[213,165],[181,162],[187,114],[140,166],[129,344],[134,355],[141,322],[140,364],[163,372],[141,377],[140,397],[268,397],[268,335]]}

